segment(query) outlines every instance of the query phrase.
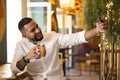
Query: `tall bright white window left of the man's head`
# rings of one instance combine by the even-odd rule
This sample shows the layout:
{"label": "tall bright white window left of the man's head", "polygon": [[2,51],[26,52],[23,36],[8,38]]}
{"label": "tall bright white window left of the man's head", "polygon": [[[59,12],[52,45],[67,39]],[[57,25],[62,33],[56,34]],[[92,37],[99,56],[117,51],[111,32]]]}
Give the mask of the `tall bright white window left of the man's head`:
{"label": "tall bright white window left of the man's head", "polygon": [[[13,2],[15,3],[13,5]],[[21,19],[21,0],[6,0],[7,5],[7,62],[11,62],[16,42],[21,39],[18,22]]]}

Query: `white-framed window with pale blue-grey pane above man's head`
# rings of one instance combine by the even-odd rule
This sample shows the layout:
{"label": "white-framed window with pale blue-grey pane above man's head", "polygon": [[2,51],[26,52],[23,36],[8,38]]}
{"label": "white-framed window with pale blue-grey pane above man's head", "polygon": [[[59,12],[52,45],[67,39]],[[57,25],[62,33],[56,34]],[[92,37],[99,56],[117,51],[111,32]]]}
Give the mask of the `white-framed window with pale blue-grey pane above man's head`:
{"label": "white-framed window with pale blue-grey pane above man's head", "polygon": [[27,16],[37,21],[42,32],[51,31],[51,4],[49,2],[28,2]]}

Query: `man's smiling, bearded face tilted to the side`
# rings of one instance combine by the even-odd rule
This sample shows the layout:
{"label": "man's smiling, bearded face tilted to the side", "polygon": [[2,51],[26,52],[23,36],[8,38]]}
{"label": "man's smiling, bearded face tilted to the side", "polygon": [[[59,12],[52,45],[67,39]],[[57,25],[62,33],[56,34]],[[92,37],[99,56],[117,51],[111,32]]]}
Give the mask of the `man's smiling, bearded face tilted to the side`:
{"label": "man's smiling, bearded face tilted to the side", "polygon": [[33,20],[24,26],[23,34],[30,41],[40,41],[43,39],[43,34],[40,27]]}

